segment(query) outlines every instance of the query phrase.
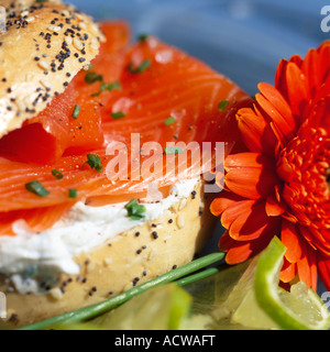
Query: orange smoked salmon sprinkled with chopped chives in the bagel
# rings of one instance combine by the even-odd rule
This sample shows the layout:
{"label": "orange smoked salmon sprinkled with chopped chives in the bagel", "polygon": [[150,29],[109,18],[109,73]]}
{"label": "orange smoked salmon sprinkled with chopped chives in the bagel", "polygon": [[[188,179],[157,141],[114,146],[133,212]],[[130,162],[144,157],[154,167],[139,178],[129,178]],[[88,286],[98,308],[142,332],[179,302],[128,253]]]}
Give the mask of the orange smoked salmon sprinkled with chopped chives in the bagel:
{"label": "orange smoked salmon sprinkled with chopped chives in the bagel", "polygon": [[[130,157],[128,177],[111,182],[109,145],[121,143],[130,154],[132,135],[141,146],[157,143],[160,156],[178,142],[224,142],[228,153],[239,139],[235,112],[251,98],[234,82],[154,36],[131,44],[125,22],[102,30],[108,41],[91,65],[46,110],[0,140],[0,234],[13,234],[19,220],[43,231],[79,200],[130,200],[151,182],[162,189],[186,177],[135,179]],[[141,168],[151,155],[139,156]]]}

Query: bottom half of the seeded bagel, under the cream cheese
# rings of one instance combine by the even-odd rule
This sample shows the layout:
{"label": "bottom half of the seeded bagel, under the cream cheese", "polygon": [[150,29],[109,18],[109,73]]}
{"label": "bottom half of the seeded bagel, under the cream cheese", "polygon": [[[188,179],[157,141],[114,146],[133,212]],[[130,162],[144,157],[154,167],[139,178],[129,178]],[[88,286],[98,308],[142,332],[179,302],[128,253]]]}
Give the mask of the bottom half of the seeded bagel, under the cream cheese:
{"label": "bottom half of the seeded bagel, under the cream cheese", "polygon": [[0,319],[0,328],[31,324],[103,301],[190,262],[210,239],[216,223],[208,210],[212,197],[204,195],[202,182],[191,195],[174,204],[162,218],[145,221],[76,257],[80,273],[61,275],[58,285],[43,295],[21,295],[0,276],[0,292],[7,297],[7,320]]}

